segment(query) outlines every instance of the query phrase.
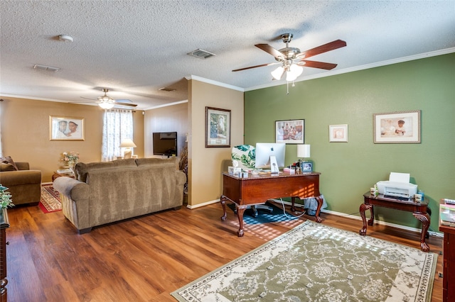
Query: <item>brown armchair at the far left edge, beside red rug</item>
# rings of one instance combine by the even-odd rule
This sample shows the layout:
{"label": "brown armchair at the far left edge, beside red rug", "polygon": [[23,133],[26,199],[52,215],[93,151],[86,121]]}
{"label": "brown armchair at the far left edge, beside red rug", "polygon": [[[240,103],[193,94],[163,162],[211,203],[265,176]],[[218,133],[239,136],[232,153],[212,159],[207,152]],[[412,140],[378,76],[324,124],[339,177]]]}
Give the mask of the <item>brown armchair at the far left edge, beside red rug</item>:
{"label": "brown armchair at the far left edge, beside red rug", "polygon": [[41,198],[41,171],[31,170],[28,162],[11,161],[0,162],[0,184],[8,188],[14,205],[37,205]]}

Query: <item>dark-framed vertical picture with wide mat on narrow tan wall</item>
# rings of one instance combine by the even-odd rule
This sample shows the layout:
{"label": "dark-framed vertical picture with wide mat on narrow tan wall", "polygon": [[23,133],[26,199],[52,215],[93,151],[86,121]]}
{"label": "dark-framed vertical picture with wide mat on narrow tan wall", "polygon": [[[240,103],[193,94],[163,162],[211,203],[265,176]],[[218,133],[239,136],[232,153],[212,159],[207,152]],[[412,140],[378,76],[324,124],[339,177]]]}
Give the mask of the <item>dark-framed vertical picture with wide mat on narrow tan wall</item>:
{"label": "dark-framed vertical picture with wide mat on narrow tan wall", "polygon": [[230,110],[205,107],[205,147],[230,147]]}

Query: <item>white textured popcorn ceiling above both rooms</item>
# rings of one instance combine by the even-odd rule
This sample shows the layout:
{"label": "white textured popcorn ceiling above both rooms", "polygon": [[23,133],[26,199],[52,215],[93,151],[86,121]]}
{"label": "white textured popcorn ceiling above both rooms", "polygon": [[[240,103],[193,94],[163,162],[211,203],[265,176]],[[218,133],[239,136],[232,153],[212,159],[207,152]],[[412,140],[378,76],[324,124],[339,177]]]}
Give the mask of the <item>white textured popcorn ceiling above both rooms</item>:
{"label": "white textured popcorn ceiling above both rooms", "polygon": [[[96,99],[106,87],[114,99],[142,109],[186,100],[191,75],[244,90],[284,84],[272,82],[275,67],[232,72],[276,62],[254,45],[280,49],[282,33],[292,33],[290,45],[302,51],[336,39],[347,43],[311,58],[337,63],[336,69],[306,67],[299,79],[455,52],[455,1],[1,0],[0,21],[2,96],[84,101],[81,96]],[[187,55],[198,48],[216,56]]]}

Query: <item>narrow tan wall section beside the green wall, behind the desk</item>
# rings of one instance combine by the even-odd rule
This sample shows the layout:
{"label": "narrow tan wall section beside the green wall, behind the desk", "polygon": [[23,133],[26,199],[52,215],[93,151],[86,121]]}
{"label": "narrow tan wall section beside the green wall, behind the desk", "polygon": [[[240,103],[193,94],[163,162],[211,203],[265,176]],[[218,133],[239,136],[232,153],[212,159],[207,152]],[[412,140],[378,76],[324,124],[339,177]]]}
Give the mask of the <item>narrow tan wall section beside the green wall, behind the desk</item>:
{"label": "narrow tan wall section beside the green wall, behind the desk", "polygon": [[[231,111],[231,147],[205,147],[205,106]],[[231,149],[243,143],[243,92],[194,79],[188,84],[188,206],[208,203],[223,192],[221,173]]]}

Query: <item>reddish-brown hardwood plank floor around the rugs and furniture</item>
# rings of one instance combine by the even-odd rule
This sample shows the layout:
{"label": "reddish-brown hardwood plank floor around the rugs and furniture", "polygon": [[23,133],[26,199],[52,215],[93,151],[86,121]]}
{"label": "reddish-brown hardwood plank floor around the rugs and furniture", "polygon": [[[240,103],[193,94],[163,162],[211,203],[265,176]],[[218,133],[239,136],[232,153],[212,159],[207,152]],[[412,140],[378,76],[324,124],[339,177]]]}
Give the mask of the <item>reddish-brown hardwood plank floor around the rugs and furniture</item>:
{"label": "reddish-brown hardwood plank floor around the rugs and furniture", "polygon": [[[78,235],[62,212],[38,206],[9,209],[6,230],[8,299],[23,301],[175,301],[169,293],[244,255],[306,219],[245,225],[225,222],[220,204],[164,211],[94,228]],[[358,233],[361,220],[321,213],[323,224]],[[368,235],[419,247],[419,234],[375,225]],[[442,239],[427,240],[430,251]],[[432,301],[442,301],[438,257]]]}

